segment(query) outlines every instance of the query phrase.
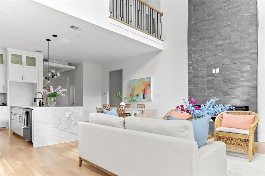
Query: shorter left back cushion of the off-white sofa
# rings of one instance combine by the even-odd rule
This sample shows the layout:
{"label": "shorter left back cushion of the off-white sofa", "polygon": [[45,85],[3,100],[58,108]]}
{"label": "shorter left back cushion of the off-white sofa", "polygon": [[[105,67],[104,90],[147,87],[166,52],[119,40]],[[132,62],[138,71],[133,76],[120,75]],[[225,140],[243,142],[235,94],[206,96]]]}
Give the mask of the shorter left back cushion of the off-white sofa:
{"label": "shorter left back cushion of the off-white sofa", "polygon": [[117,128],[125,128],[124,118],[109,114],[92,112],[89,114],[89,122]]}

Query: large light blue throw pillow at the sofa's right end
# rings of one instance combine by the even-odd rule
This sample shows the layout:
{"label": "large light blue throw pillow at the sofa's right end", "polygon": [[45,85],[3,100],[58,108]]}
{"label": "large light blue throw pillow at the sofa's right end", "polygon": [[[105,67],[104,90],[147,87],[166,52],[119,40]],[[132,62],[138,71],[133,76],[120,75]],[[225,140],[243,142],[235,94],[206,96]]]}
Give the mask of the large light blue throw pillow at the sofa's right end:
{"label": "large light blue throw pillow at the sofa's right end", "polygon": [[[174,117],[167,116],[168,120],[183,120],[175,119]],[[206,139],[209,133],[209,122],[211,115],[207,115],[198,119],[189,120],[193,125],[194,139],[198,144],[198,148],[206,145]]]}

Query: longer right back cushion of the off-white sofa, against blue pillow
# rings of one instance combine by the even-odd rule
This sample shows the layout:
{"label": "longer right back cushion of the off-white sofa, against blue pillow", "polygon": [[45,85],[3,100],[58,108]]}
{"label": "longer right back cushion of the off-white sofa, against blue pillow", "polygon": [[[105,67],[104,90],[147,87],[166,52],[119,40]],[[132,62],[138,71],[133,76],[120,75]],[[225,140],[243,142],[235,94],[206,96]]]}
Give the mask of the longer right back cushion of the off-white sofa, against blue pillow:
{"label": "longer right back cushion of the off-white sofa, against blue pillow", "polygon": [[168,121],[129,116],[125,118],[125,128],[194,140],[192,123],[189,121]]}

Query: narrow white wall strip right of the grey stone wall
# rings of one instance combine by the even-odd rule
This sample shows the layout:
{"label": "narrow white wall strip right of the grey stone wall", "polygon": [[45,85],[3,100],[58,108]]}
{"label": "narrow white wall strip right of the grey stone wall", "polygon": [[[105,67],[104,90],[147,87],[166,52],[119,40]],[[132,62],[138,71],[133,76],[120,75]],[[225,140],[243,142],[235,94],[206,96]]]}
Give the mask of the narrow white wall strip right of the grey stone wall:
{"label": "narrow white wall strip right of the grey stone wall", "polygon": [[258,0],[258,141],[265,142],[265,0]]}

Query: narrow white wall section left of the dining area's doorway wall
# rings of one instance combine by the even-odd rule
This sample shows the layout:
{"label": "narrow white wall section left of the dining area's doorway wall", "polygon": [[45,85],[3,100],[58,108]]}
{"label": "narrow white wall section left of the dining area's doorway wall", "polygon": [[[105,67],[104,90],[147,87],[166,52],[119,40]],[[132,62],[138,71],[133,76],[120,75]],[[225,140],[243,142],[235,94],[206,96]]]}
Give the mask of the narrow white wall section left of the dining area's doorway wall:
{"label": "narrow white wall section left of the dining area's doorway wall", "polygon": [[83,62],[83,117],[96,112],[101,105],[101,65]]}

